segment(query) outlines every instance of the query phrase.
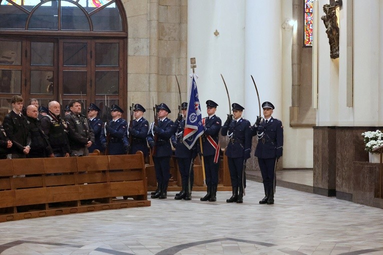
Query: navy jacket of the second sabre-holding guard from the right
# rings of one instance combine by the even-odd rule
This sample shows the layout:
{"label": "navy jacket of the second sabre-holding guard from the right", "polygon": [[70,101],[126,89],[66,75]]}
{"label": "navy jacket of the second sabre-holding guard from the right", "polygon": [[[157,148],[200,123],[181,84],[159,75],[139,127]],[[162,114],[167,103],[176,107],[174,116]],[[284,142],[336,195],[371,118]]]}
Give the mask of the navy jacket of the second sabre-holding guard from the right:
{"label": "navy jacket of the second sabre-holding guard from the right", "polygon": [[228,157],[250,157],[251,152],[251,124],[244,118],[226,121],[221,129],[221,135],[230,137],[225,155]]}

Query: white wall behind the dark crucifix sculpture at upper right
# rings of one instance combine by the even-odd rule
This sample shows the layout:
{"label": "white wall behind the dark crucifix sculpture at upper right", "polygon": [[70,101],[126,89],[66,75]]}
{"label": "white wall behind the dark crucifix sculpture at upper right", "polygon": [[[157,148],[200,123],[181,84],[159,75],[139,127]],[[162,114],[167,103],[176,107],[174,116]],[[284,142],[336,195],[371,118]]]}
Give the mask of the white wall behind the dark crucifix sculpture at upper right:
{"label": "white wall behind the dark crucifix sculpture at upper right", "polygon": [[[353,28],[347,27],[347,2],[339,13],[339,58],[331,59],[325,26],[320,20],[318,49],[318,110],[317,125],[369,126],[382,125],[379,103],[382,98],[381,0],[353,1]],[[319,6],[328,3],[319,0]],[[376,7],[378,6],[378,7]],[[321,15],[323,15],[321,13]],[[380,21],[380,22],[379,22]],[[346,106],[346,36],[353,29],[353,107]],[[376,30],[377,29],[377,30]],[[380,40],[379,40],[380,38]],[[380,65],[379,65],[380,62]],[[370,107],[376,105],[376,107]],[[368,110],[367,110],[368,108]],[[381,119],[381,117],[380,117]]]}

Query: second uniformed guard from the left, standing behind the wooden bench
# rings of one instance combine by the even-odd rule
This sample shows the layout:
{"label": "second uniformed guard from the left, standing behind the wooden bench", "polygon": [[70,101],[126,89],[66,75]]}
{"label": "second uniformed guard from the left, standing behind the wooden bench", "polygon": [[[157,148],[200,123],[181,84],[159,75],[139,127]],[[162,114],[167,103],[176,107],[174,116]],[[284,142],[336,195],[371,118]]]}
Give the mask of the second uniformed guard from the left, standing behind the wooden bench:
{"label": "second uniformed guard from the left, standing behind the wooden bench", "polygon": [[108,155],[122,155],[126,154],[126,147],[128,143],[124,142],[124,135],[126,133],[127,122],[121,117],[124,110],[117,104],[111,106],[112,119],[105,122],[105,128],[101,131],[101,143],[107,150]]}

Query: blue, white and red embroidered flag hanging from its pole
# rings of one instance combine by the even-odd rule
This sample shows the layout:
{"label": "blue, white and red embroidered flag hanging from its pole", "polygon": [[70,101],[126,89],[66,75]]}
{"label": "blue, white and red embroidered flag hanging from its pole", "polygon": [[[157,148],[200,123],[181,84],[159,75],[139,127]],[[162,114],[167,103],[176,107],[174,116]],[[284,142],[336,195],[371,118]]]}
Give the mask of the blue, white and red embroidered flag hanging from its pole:
{"label": "blue, white and red embroidered flag hanging from its pole", "polygon": [[189,88],[188,111],[185,120],[185,130],[183,138],[183,143],[189,149],[193,147],[198,137],[203,134],[201,106],[199,103],[197,83],[195,82],[195,77],[198,78],[198,76],[195,73],[191,74],[190,76],[191,84]]}

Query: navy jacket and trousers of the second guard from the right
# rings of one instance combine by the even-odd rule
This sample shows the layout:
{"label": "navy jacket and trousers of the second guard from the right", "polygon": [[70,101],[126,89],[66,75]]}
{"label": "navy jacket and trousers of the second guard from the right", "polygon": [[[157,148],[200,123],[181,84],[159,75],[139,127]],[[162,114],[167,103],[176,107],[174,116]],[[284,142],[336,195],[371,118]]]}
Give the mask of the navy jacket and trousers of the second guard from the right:
{"label": "navy jacket and trousers of the second guard from the right", "polygon": [[243,165],[251,152],[251,124],[247,119],[239,118],[226,121],[222,126],[221,135],[230,137],[225,155],[229,164],[231,186],[235,188],[246,187]]}

